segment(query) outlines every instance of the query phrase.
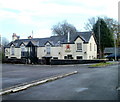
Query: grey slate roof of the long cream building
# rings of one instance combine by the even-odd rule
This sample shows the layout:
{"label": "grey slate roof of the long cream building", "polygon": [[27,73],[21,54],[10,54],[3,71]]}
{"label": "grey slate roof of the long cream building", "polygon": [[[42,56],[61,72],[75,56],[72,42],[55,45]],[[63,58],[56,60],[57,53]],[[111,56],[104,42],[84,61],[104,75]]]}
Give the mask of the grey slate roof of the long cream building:
{"label": "grey slate roof of the long cream building", "polygon": [[[70,35],[69,43],[74,43],[77,37],[81,37],[85,43],[88,43],[92,34],[93,34],[92,32],[76,32],[76,34]],[[30,41],[35,46],[40,46],[40,47],[45,46],[45,43],[47,41],[50,42],[52,46],[68,43],[67,35],[62,35],[62,36],[51,36],[47,38],[19,39],[19,40],[10,42],[6,47],[10,47],[11,44],[15,45],[15,47],[20,47],[21,43],[24,43],[25,45],[27,45]]]}

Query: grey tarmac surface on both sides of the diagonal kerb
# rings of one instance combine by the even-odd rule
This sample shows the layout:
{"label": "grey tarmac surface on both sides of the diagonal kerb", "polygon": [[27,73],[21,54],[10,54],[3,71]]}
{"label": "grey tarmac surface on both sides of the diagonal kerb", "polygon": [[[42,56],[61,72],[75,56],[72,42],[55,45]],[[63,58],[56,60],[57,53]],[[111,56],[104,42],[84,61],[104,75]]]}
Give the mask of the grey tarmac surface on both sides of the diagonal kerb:
{"label": "grey tarmac surface on both sides of the diagonal kerb", "polygon": [[[3,100],[118,100],[118,65],[104,68],[88,68],[88,65],[72,66],[24,66],[3,65],[4,87],[71,71],[69,77],[31,87],[18,93],[3,96]],[[10,69],[11,68],[11,69]],[[32,71],[32,72],[31,72]],[[27,74],[25,74],[27,73]],[[33,73],[33,74],[32,74]],[[50,73],[50,74],[49,74]],[[47,74],[47,75],[45,75]],[[44,77],[42,77],[44,76]],[[10,85],[8,85],[10,83]],[[13,84],[14,83],[14,84]]]}

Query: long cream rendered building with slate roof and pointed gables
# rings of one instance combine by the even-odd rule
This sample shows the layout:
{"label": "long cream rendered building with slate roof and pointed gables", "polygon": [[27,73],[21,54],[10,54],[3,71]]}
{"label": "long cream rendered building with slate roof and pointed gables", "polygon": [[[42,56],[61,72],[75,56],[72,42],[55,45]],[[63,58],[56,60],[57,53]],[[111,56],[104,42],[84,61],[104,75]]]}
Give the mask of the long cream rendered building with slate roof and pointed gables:
{"label": "long cream rendered building with slate roof and pointed gables", "polygon": [[8,59],[22,59],[26,56],[30,59],[97,58],[97,44],[93,32],[77,32],[48,38],[15,38],[5,47],[5,56]]}

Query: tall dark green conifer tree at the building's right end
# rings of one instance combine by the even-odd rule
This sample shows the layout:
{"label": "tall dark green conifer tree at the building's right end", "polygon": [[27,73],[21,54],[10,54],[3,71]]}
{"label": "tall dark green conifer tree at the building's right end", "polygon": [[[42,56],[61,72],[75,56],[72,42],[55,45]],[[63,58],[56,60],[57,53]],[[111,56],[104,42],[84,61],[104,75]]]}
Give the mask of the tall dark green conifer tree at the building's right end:
{"label": "tall dark green conifer tree at the building's right end", "polygon": [[93,26],[93,31],[97,39],[98,48],[99,48],[99,28],[100,28],[100,49],[103,57],[104,48],[114,46],[114,37],[111,30],[107,27],[105,21],[102,18],[98,19],[96,24],[94,24]]}

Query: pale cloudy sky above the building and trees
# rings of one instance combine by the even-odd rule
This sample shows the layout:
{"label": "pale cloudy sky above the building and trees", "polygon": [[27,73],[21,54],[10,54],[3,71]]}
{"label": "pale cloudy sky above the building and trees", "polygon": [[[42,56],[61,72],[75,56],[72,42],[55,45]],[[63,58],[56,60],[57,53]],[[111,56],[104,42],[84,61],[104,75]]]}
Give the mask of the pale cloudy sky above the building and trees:
{"label": "pale cloudy sky above the building and trees", "polygon": [[67,20],[85,31],[88,18],[107,16],[118,19],[119,0],[0,0],[0,34],[9,41],[12,34],[27,38],[49,37],[51,28]]}

